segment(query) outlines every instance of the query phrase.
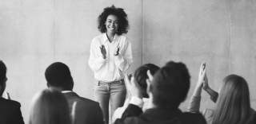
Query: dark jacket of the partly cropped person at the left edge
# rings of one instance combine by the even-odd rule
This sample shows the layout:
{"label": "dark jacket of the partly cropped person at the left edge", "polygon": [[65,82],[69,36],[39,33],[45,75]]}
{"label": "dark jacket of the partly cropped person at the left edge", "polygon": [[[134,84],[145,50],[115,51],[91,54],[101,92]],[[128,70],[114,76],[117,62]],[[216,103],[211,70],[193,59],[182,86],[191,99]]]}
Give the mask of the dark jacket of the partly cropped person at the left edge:
{"label": "dark jacket of the partly cropped person at the left edge", "polygon": [[0,97],[0,123],[1,124],[24,124],[21,104]]}

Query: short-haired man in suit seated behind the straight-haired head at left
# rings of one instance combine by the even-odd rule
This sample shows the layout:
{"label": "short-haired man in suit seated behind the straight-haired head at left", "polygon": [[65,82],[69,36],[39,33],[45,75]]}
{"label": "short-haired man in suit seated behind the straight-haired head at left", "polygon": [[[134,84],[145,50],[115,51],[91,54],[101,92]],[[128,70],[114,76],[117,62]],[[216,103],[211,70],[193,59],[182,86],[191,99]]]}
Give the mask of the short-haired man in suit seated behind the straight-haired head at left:
{"label": "short-haired man in suit seated behind the straight-haired head at left", "polygon": [[56,62],[50,64],[46,68],[46,80],[47,86],[62,91],[63,95],[69,103],[70,112],[72,110],[73,103],[76,101],[76,110],[74,122],[75,124],[103,124],[102,110],[97,102],[93,100],[82,98],[77,95],[73,90],[74,81],[70,73],[70,69],[66,64]]}

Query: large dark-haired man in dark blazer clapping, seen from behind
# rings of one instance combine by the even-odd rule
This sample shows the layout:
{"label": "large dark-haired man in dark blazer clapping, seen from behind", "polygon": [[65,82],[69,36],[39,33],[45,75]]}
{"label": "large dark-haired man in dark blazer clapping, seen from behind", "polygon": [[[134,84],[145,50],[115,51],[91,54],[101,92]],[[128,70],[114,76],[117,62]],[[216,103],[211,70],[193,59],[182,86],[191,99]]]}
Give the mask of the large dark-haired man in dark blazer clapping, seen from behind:
{"label": "large dark-haired man in dark blazer clapping, seen from behind", "polygon": [[[142,113],[142,91],[134,77],[126,82],[126,88],[132,95],[130,104],[115,124],[204,124],[202,114],[182,113],[178,109],[186,99],[190,88],[190,75],[185,64],[170,62],[155,73],[149,74],[147,93],[148,109]],[[128,76],[126,76],[128,78]],[[127,79],[129,80],[129,79]],[[150,81],[151,80],[151,81]]]}

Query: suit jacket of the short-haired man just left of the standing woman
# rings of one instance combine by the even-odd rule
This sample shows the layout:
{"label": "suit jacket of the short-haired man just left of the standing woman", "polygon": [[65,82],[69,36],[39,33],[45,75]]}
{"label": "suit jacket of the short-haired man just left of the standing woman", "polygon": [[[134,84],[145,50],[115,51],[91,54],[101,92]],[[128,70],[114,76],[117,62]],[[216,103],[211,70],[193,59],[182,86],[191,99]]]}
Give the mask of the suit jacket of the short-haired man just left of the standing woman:
{"label": "suit jacket of the short-haired man just left of the standing woman", "polygon": [[75,124],[103,124],[102,110],[99,104],[93,100],[82,98],[74,92],[63,93],[69,103],[70,112],[74,101],[77,102],[75,109]]}

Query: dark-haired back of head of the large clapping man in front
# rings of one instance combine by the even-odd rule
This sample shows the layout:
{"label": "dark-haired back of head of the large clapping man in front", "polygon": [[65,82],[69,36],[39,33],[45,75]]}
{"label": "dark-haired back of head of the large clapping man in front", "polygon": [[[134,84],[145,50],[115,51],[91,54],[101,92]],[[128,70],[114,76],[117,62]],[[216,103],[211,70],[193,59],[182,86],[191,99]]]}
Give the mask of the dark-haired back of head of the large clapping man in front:
{"label": "dark-haired back of head of the large clapping man in front", "polygon": [[178,108],[190,89],[190,74],[185,64],[169,62],[154,75],[150,85],[153,103],[162,108]]}

